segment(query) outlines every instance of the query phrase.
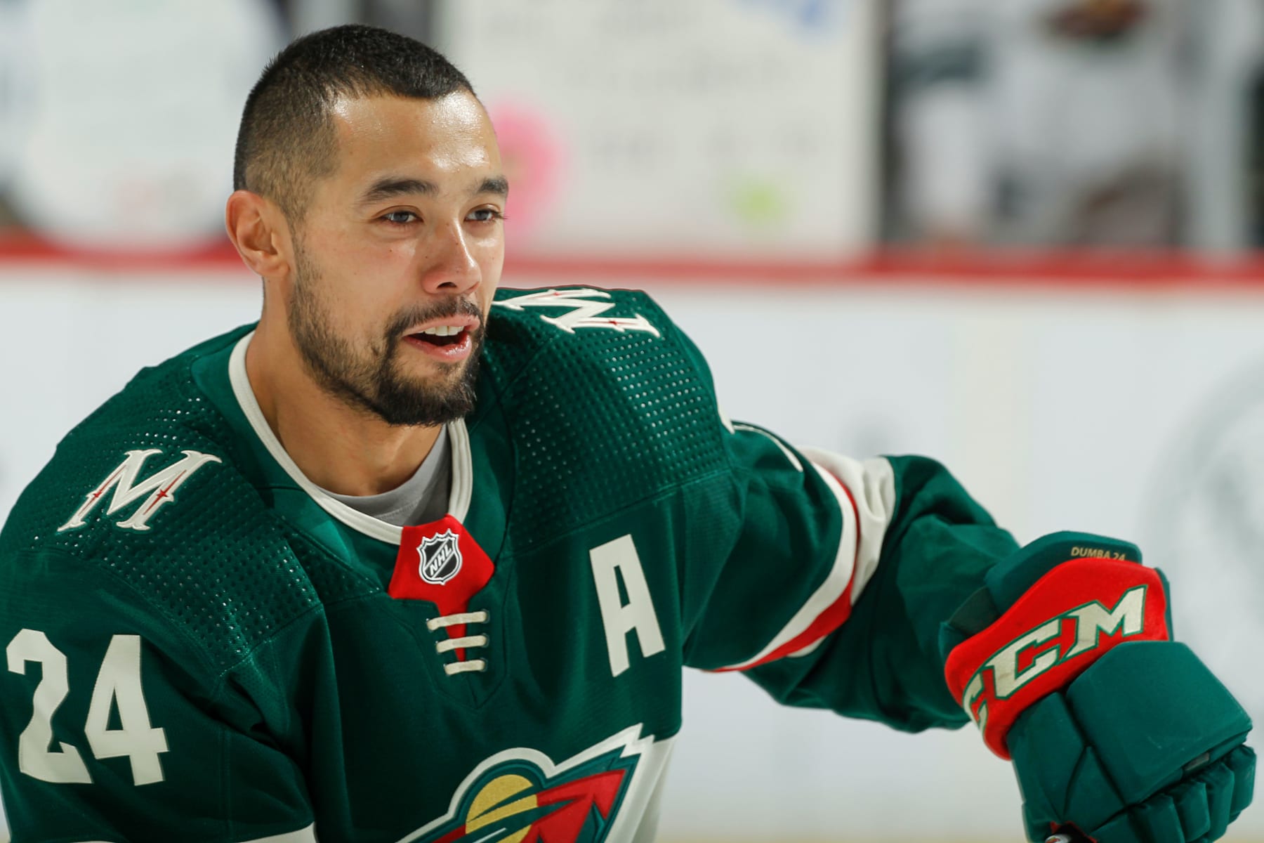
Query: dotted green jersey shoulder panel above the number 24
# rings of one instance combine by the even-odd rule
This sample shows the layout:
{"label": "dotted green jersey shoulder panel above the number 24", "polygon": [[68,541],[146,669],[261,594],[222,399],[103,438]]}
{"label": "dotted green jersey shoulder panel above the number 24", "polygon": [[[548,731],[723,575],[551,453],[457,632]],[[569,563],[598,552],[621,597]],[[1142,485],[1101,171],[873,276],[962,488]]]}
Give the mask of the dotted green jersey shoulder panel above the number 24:
{"label": "dotted green jersey shoulder panel above the number 24", "polygon": [[140,372],[62,440],[0,532],[0,581],[54,602],[73,578],[125,594],[221,666],[316,604],[191,374],[239,335]]}

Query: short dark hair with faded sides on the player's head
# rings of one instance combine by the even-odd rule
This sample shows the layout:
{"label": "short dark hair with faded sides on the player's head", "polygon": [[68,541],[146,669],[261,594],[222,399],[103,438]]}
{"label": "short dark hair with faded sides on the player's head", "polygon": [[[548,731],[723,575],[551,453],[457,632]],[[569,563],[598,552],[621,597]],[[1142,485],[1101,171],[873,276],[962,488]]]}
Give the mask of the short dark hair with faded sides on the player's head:
{"label": "short dark hair with faded sides on the player's head", "polygon": [[330,109],[339,97],[437,100],[469,80],[437,51],[387,29],[349,24],[293,40],[263,68],[246,97],[233,162],[233,188],[303,219],[316,179],[337,167]]}

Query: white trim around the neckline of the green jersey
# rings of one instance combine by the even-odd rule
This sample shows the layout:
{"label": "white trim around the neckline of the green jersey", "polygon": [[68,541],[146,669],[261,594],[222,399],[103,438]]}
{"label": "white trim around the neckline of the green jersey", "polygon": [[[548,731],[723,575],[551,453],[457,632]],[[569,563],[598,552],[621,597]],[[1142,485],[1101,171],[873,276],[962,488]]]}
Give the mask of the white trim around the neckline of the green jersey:
{"label": "white trim around the neckline of the green jersey", "polygon": [[[250,378],[245,373],[245,350],[250,345],[250,337],[253,336],[254,331],[250,331],[238,340],[236,346],[234,346],[233,355],[229,358],[229,382],[233,384],[233,394],[236,397],[241,412],[245,413],[246,421],[250,422],[255,436],[268,449],[272,459],[277,460],[277,464],[286,470],[286,474],[312,500],[320,504],[321,509],[365,536],[398,545],[403,535],[402,527],[388,525],[384,521],[367,516],[346,506],[341,500],[331,498],[320,487],[308,480],[298,465],[289,458],[289,454],[286,452],[286,449],[281,445],[281,440],[272,432],[272,427],[268,426],[268,421],[263,417],[263,409],[259,408],[259,402],[254,397],[254,389],[250,388]],[[453,489],[447,497],[447,512],[458,521],[464,522],[465,516],[469,513],[470,497],[474,493],[474,463],[470,456],[470,436],[465,428],[464,418],[458,418],[447,423],[447,437],[453,451]]]}

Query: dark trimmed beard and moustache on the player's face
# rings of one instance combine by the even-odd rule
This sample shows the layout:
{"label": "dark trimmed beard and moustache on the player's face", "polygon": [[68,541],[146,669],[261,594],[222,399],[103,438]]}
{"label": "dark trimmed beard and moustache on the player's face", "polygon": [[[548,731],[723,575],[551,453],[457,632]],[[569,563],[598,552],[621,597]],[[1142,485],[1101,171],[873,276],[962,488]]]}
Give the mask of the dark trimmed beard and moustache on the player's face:
{"label": "dark trimmed beard and moustache on the player's face", "polygon": [[[313,267],[301,249],[296,253],[295,298],[287,321],[307,370],[322,389],[388,425],[434,427],[474,409],[478,359],[487,330],[477,305],[451,298],[434,307],[397,313],[383,331],[380,344],[373,344],[368,355],[359,355],[330,330],[325,310],[310,287],[316,278]],[[480,318],[478,329],[470,331],[470,355],[460,363],[440,364],[442,374],[434,383],[404,378],[397,367],[404,332],[420,322],[463,313]]]}

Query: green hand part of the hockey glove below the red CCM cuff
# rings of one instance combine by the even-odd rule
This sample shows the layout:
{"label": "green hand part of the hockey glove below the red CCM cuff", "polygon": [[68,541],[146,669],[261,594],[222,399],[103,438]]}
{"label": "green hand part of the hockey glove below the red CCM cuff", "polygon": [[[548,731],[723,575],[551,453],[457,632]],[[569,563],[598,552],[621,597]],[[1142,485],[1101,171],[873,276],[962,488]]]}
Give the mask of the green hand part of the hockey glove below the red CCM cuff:
{"label": "green hand part of the hockey glove below the red CCM cuff", "polygon": [[1251,722],[1188,647],[1124,643],[1010,729],[1028,837],[1215,840],[1251,801]]}

